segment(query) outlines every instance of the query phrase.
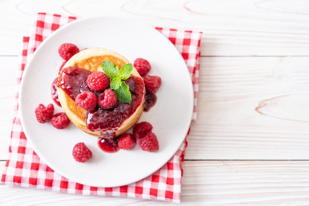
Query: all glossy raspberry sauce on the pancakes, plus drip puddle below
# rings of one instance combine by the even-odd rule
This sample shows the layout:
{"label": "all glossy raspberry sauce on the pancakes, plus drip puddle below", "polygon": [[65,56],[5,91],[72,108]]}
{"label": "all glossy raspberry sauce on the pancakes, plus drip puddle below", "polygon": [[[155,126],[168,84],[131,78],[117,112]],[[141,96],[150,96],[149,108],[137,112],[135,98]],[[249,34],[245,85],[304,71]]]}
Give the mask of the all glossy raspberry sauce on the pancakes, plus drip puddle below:
{"label": "all glossy raspberry sauce on the pancakes, plus drip puddle below", "polygon": [[[58,86],[61,86],[65,93],[75,100],[79,93],[90,90],[86,83],[90,73],[90,71],[77,67],[65,68],[59,77]],[[102,138],[98,139],[98,145],[106,152],[119,150],[117,138],[115,137],[116,130],[144,101],[145,88],[143,79],[131,75],[125,82],[131,92],[131,103],[117,102],[116,106],[111,109],[97,107],[95,111],[86,113],[87,128],[91,131],[101,132]],[[98,96],[99,92],[95,94]]]}

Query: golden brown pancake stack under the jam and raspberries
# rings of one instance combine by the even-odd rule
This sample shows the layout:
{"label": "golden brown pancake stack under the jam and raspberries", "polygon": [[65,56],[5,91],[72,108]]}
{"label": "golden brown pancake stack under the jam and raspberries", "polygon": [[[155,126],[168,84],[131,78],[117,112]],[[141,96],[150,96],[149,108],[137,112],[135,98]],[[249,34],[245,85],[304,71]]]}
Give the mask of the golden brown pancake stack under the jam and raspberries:
{"label": "golden brown pancake stack under the jam and raspberries", "polygon": [[[91,72],[94,71],[103,71],[102,70],[102,63],[103,61],[111,61],[114,65],[116,65],[119,69],[127,63],[130,63],[125,57],[122,55],[105,49],[105,48],[88,48],[81,50],[77,54],[75,54],[68,62],[64,65],[63,69],[68,67],[77,67],[80,69],[85,69]],[[63,69],[59,73],[59,80],[58,80],[58,98],[62,108],[64,109],[65,113],[71,120],[71,122],[76,125],[79,129],[86,132],[89,135],[93,135],[96,137],[102,137],[102,134],[115,134],[115,136],[119,136],[126,132],[128,129],[133,127],[138,119],[140,118],[143,112],[143,103],[144,103],[144,95],[139,106],[137,106],[136,110],[127,117],[119,127],[116,128],[109,128],[109,130],[96,130],[91,131],[87,128],[86,118],[87,118],[87,111],[83,108],[77,106],[75,100],[73,100],[62,88],[61,76]],[[132,74],[139,78],[142,78],[137,70],[133,67]],[[144,87],[144,85],[143,85]],[[145,90],[145,89],[144,89]]]}

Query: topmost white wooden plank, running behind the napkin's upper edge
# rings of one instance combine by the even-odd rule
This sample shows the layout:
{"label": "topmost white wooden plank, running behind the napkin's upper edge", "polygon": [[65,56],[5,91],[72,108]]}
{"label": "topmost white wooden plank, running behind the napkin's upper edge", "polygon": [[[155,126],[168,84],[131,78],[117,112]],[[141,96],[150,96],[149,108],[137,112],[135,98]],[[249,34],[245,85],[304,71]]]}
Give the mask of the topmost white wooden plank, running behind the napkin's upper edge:
{"label": "topmost white wooden plank, running behind the napkin's upper edge", "polygon": [[89,0],[85,5],[75,0],[0,1],[0,55],[17,55],[17,43],[23,35],[30,34],[32,14],[49,12],[78,17],[104,14],[152,26],[201,31],[203,56],[308,56],[309,15],[304,6],[307,1],[297,2]]}

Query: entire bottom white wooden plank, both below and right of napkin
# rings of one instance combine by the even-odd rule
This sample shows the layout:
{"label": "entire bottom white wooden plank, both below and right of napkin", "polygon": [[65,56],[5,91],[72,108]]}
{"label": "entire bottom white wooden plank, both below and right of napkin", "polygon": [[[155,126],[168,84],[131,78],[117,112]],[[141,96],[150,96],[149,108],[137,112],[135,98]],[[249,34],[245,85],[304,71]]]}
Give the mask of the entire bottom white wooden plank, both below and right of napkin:
{"label": "entire bottom white wooden plank, both below and right of napkin", "polygon": [[[4,162],[0,162],[0,171]],[[309,202],[309,161],[186,161],[181,205],[285,205]],[[67,195],[0,187],[0,205],[170,205],[159,201]]]}

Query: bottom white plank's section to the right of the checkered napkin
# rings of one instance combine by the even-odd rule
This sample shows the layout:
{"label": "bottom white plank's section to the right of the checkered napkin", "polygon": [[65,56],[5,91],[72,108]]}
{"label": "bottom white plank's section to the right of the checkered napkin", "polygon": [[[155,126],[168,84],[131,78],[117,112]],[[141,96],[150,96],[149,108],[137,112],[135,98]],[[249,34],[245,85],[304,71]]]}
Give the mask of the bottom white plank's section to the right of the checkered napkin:
{"label": "bottom white plank's section to the right of the checkered napkin", "polygon": [[305,205],[308,175],[308,161],[186,162],[182,198],[206,205]]}

